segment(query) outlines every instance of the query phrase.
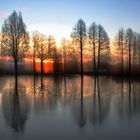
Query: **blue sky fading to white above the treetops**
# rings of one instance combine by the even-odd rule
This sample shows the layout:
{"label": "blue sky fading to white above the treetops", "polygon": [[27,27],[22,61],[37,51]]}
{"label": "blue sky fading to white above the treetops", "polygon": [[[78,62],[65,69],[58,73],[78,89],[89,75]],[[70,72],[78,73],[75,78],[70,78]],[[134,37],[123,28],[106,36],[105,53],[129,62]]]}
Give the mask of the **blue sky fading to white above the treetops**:
{"label": "blue sky fading to white above the treetops", "polygon": [[140,31],[140,0],[0,0],[0,28],[13,10],[22,12],[29,32],[38,30],[56,41],[69,39],[79,18],[87,27],[103,25],[112,39],[121,27]]}

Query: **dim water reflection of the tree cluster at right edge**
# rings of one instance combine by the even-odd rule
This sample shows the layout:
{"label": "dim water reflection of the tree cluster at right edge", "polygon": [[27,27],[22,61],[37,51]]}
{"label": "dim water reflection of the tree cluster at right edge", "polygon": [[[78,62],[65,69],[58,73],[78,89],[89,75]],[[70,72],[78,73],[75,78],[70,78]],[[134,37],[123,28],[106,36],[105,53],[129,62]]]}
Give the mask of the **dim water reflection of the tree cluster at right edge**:
{"label": "dim water reflection of the tree cluster at right edge", "polygon": [[[131,120],[140,114],[140,84],[136,79],[117,79],[118,98],[116,111],[121,121]],[[119,96],[119,93],[120,96]]]}

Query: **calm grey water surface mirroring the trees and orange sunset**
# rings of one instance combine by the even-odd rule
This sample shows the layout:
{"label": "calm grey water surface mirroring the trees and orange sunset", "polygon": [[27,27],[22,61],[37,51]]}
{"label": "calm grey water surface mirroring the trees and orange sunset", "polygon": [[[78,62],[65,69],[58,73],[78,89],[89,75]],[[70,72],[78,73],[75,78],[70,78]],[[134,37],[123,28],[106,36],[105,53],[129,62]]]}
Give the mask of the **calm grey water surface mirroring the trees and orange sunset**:
{"label": "calm grey water surface mirroring the trees and orange sunset", "polygon": [[140,82],[0,77],[0,140],[139,140]]}

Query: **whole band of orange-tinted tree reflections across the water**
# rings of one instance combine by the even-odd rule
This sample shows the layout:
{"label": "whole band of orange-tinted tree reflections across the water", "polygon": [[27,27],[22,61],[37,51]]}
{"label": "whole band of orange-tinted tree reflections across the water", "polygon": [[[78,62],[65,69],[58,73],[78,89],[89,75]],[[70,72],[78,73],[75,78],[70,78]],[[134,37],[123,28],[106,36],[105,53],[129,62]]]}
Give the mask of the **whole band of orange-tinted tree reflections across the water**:
{"label": "whole band of orange-tinted tree reflections across the water", "polygon": [[57,119],[60,114],[63,118],[66,111],[80,129],[89,123],[93,127],[102,125],[112,114],[114,122],[116,118],[126,121],[140,114],[140,84],[136,80],[44,76],[41,82],[40,77],[21,76],[17,86],[9,81],[3,79],[2,111],[16,132],[24,131],[30,111],[34,116],[47,112],[50,120],[51,112]]}

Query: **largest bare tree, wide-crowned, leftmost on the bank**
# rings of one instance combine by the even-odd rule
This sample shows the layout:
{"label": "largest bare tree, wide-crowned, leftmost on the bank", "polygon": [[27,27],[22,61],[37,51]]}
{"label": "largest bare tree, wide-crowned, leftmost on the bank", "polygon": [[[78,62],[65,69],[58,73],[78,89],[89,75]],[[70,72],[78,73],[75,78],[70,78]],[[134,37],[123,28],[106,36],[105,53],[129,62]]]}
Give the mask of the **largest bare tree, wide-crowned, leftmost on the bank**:
{"label": "largest bare tree, wide-crowned, leftmost on the bank", "polygon": [[28,50],[29,35],[26,25],[23,22],[21,12],[13,13],[4,21],[2,25],[2,53],[12,56],[15,63],[15,78],[17,81],[17,63]]}

